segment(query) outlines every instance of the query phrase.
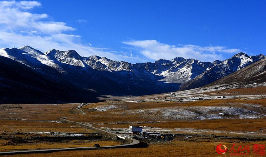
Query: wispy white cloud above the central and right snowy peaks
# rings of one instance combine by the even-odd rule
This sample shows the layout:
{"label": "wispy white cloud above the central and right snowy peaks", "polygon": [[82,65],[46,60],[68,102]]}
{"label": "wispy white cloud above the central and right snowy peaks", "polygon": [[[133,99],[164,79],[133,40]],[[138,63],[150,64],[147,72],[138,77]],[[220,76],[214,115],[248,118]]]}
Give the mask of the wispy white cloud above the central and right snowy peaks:
{"label": "wispy white cloud above the central and right snowy peaks", "polygon": [[133,40],[129,42],[122,42],[124,44],[134,46],[140,50],[140,53],[153,60],[159,58],[171,60],[177,56],[182,56],[184,58],[193,58],[200,61],[214,61],[222,60],[223,54],[221,53],[237,53],[241,50],[239,49],[228,49],[221,46],[208,46],[200,47],[195,45],[169,45],[165,43],[160,43],[156,40]]}

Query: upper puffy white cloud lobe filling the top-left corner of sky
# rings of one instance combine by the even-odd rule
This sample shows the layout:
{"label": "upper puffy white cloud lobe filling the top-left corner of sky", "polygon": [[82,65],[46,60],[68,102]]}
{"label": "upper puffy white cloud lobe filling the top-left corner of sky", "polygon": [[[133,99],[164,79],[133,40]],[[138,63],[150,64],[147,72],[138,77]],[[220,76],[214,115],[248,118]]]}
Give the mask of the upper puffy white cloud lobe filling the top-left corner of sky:
{"label": "upper puffy white cloud lobe filling the top-left corner of sky", "polygon": [[41,6],[41,3],[36,1],[1,1],[0,28],[7,31],[33,29],[43,34],[76,30],[66,26],[64,22],[46,21],[47,14],[33,14],[24,11],[38,6]]}

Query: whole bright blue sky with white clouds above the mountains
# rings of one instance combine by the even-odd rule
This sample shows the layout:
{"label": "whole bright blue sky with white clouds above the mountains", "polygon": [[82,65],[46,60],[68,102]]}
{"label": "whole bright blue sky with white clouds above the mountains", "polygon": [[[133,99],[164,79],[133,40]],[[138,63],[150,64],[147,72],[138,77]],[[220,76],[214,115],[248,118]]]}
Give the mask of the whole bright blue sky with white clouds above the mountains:
{"label": "whole bright blue sky with white clouds above the mountains", "polygon": [[266,54],[266,1],[0,1],[0,47],[131,63]]}

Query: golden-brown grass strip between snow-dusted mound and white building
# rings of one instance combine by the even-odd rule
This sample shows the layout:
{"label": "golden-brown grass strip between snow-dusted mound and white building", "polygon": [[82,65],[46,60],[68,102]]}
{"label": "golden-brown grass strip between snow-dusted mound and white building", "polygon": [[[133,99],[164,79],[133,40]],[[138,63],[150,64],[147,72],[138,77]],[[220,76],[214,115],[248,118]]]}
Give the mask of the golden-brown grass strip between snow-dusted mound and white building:
{"label": "golden-brown grass strip between snow-dusted mound and white building", "polygon": [[128,125],[141,125],[154,128],[193,128],[199,130],[212,130],[224,131],[245,131],[261,133],[260,129],[266,128],[266,118],[261,119],[216,119],[216,120],[193,120],[193,121],[172,121],[172,122],[157,122],[157,123],[131,123],[131,124],[113,124],[113,125],[94,125],[95,127],[106,128],[128,128]]}

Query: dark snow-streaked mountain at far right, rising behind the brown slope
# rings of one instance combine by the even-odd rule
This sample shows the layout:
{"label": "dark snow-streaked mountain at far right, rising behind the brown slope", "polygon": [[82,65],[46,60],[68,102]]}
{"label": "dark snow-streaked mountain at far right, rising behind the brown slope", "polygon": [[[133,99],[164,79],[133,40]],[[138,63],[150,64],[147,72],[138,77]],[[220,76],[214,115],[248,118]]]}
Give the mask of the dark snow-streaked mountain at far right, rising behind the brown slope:
{"label": "dark snow-streaked mountain at far right, rising behind the brown slope", "polygon": [[202,74],[198,75],[195,79],[183,86],[180,90],[188,90],[205,86],[263,58],[265,58],[265,55],[248,56],[247,54],[240,52],[233,57],[222,61],[220,64],[214,65],[207,71],[204,71]]}

